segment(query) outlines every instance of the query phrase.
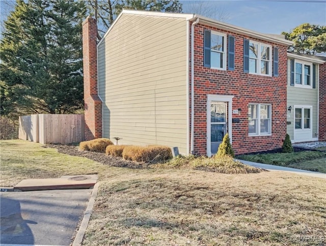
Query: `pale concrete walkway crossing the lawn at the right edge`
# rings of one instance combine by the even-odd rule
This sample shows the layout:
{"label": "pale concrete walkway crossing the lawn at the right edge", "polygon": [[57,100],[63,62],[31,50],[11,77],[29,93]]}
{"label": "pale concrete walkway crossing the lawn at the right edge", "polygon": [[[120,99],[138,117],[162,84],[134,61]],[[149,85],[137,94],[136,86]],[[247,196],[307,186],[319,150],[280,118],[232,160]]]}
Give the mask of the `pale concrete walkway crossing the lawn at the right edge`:
{"label": "pale concrete walkway crossing the lawn at the right edge", "polygon": [[324,174],[324,173],[317,173],[317,172],[311,172],[311,171],[295,169],[295,168],[286,168],[286,167],[262,164],[262,163],[247,161],[247,160],[238,160],[238,161],[242,162],[243,164],[246,164],[246,165],[249,165],[249,166],[252,166],[255,168],[262,168],[262,169],[265,169],[268,171],[290,172],[290,173],[295,173],[295,174],[300,174],[300,175],[306,175],[306,176],[326,179],[326,174]]}

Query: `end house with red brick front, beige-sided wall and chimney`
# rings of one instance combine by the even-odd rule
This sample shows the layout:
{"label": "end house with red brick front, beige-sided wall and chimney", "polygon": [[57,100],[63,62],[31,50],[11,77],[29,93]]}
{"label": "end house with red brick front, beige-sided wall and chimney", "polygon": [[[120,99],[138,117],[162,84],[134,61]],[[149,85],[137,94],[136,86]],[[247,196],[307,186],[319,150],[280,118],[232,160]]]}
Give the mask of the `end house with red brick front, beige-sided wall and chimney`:
{"label": "end house with red brick front, beige-sided wall and chimney", "polygon": [[97,47],[87,18],[83,43],[87,139],[208,156],[226,132],[236,154],[282,146],[290,41],[195,14],[123,10]]}

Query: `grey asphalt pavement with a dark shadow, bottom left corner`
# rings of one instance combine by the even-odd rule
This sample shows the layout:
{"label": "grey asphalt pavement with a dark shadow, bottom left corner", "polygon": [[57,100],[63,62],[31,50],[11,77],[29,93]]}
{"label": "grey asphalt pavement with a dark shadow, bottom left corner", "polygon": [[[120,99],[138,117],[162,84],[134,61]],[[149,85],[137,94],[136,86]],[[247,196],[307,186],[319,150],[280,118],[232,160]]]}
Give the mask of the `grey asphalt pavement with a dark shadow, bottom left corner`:
{"label": "grey asphalt pavement with a dark shadow, bottom left corner", "polygon": [[0,193],[1,245],[70,245],[92,189]]}

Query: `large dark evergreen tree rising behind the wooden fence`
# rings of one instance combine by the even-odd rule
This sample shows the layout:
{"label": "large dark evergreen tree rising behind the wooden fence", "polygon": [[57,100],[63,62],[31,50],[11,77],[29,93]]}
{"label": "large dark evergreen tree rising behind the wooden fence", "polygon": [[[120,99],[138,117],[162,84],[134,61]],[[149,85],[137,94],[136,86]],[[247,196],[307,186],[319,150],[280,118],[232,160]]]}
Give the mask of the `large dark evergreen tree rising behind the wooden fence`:
{"label": "large dark evergreen tree rising behind the wooden fence", "polygon": [[17,0],[0,43],[1,114],[83,108],[83,1]]}

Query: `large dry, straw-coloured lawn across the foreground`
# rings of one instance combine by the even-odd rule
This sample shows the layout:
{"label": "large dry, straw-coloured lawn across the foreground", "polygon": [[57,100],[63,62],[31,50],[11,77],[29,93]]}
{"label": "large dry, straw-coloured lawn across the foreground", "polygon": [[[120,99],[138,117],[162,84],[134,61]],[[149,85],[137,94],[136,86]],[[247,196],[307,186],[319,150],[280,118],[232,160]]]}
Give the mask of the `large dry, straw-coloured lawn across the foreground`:
{"label": "large dry, straw-coloured lawn across the foreground", "polygon": [[325,180],[285,172],[130,169],[1,142],[1,182],[99,175],[83,245],[297,245],[325,237]]}

